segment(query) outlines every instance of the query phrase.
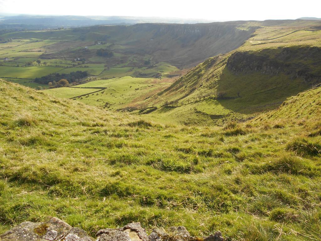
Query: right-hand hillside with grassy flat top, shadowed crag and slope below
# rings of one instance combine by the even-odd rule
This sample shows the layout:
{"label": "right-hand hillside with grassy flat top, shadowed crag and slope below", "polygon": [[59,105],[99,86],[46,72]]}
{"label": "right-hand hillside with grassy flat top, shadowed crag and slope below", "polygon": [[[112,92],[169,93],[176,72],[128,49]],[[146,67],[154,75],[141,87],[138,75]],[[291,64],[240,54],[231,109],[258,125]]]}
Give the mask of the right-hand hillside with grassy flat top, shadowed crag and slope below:
{"label": "right-hand hillside with grassy flat top, shadowed crag and slope below", "polygon": [[[160,106],[167,100],[179,101],[177,108],[159,108],[148,116],[182,124],[223,125],[229,120],[246,120],[275,109],[287,97],[319,83],[318,77],[312,81],[304,75],[296,76],[304,70],[320,79],[319,23],[264,21],[260,24],[261,28],[241,47],[207,59],[145,101],[146,106]],[[232,71],[228,63],[236,59],[237,53],[244,54],[234,61],[236,66],[232,67],[237,71]],[[248,68],[256,63],[261,63],[257,70]],[[283,69],[278,70],[280,65]],[[228,98],[198,99],[210,93],[212,96],[224,93]]]}

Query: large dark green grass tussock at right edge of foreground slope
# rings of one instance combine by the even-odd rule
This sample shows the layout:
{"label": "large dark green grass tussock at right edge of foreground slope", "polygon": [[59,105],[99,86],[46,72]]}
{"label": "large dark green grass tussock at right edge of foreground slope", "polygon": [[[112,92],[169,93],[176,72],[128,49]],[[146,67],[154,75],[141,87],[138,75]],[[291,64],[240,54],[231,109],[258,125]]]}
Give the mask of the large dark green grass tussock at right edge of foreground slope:
{"label": "large dark green grass tussock at right edge of foreground slope", "polygon": [[304,138],[297,138],[290,142],[286,149],[293,151],[301,156],[318,156],[321,154],[321,144],[318,142],[308,141]]}

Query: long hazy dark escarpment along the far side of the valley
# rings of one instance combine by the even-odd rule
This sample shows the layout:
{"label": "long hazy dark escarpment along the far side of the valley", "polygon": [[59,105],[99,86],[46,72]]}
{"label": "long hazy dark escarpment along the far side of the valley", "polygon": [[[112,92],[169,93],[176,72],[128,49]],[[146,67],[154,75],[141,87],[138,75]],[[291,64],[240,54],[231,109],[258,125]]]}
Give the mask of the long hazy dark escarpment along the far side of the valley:
{"label": "long hazy dark escarpment along the far side of the valley", "polygon": [[[60,31],[20,31],[3,35],[3,38],[37,38],[50,40],[95,41],[121,45],[110,62],[118,56],[147,56],[158,62],[168,62],[176,67],[190,67],[219,53],[238,48],[258,28],[249,22],[213,22],[198,24],[140,23],[130,26],[90,26]],[[59,44],[60,51],[48,49],[43,58],[69,57],[74,53],[68,45]],[[113,46],[112,46],[113,47]],[[65,48],[65,49],[64,49]],[[114,48],[114,47],[113,47]],[[96,55],[96,50],[82,53],[83,58]],[[77,58],[77,56],[74,56]],[[117,60],[118,61],[118,60]],[[109,64],[109,62],[106,62]]]}

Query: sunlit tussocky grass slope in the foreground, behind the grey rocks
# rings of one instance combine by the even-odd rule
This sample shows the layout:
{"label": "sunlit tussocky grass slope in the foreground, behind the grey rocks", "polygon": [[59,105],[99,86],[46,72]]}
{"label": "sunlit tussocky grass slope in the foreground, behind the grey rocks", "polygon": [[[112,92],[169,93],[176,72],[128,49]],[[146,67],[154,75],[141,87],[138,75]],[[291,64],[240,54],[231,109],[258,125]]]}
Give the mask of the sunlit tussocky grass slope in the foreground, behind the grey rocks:
{"label": "sunlit tussocky grass slope in the foreground, behind the grey rocks", "polygon": [[52,215],[91,234],[140,221],[237,240],[321,238],[320,114],[162,126],[3,81],[0,107],[2,232]]}

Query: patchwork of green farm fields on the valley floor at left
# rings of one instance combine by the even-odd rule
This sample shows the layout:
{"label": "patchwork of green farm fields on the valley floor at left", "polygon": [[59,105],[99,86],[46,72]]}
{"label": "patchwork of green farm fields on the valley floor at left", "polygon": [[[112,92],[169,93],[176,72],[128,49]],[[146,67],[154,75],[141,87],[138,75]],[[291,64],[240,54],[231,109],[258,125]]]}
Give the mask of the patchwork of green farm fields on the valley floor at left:
{"label": "patchwork of green farm fields on the valley floor at left", "polygon": [[[90,76],[97,78],[116,78],[124,76],[147,77],[164,76],[169,72],[177,71],[178,68],[166,62],[151,63],[151,66],[144,67],[135,55],[126,57],[121,53],[115,53],[117,58],[128,58],[128,61],[119,60],[116,63],[108,63],[108,59],[95,56],[87,58],[75,58],[83,55],[84,47],[75,45],[71,48],[69,55],[65,56],[64,51],[60,54],[60,45],[57,40],[41,40],[36,38],[14,39],[13,42],[0,44],[0,77],[24,78],[30,79],[27,84],[30,87],[44,88],[48,85],[37,85],[32,83],[32,79],[36,77],[46,76],[51,73],[69,74],[75,71],[87,71]],[[65,46],[65,40],[60,40]],[[92,43],[91,43],[92,44]],[[85,43],[84,43],[85,45]],[[96,51],[101,48],[108,48],[110,44],[105,45],[89,45],[87,51]],[[114,49],[126,49],[120,45],[113,45]],[[91,50],[89,50],[91,49]],[[46,58],[47,53],[58,53],[58,58]],[[93,53],[94,53],[93,52]],[[75,53],[77,53],[75,55]],[[85,53],[88,54],[88,53]],[[60,57],[60,58],[59,58]],[[147,58],[147,57],[146,57]],[[40,61],[37,63],[36,61]],[[106,63],[107,61],[107,63]],[[132,65],[132,66],[131,66]],[[16,82],[16,81],[15,81]],[[25,85],[25,83],[24,83]]]}

